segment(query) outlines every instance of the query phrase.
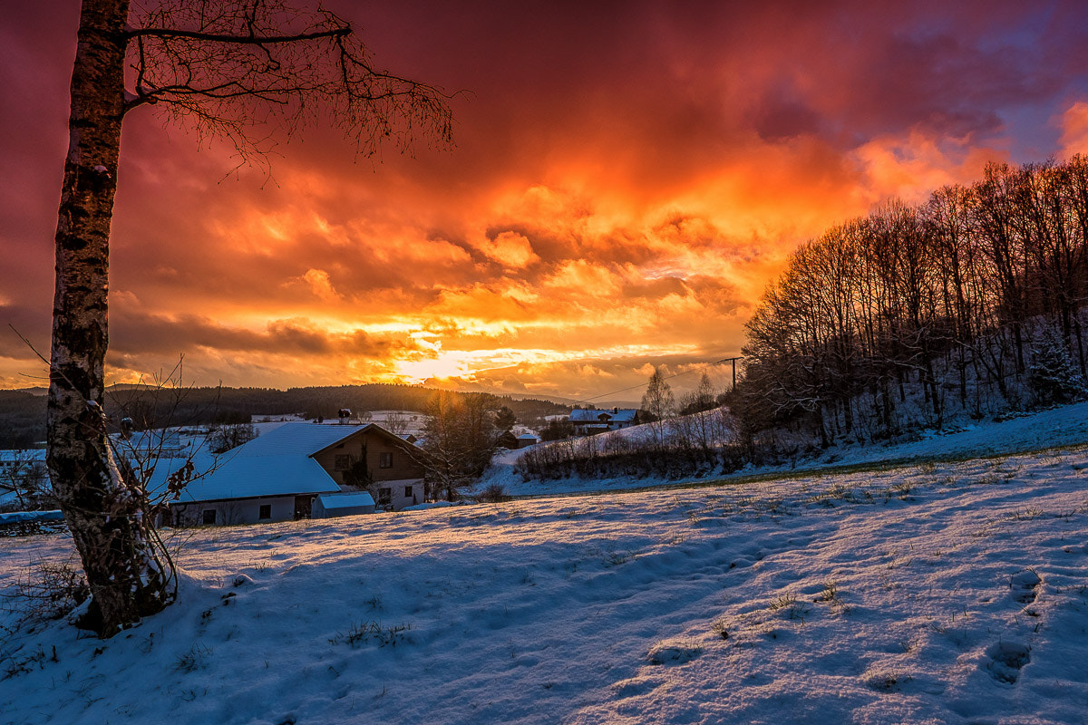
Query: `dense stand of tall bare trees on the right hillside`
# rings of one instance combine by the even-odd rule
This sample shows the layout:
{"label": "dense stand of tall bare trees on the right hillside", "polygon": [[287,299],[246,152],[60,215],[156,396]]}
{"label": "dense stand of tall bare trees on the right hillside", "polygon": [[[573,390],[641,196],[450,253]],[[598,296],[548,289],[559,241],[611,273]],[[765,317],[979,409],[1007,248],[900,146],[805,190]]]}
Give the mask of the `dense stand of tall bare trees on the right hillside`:
{"label": "dense stand of tall bare trees on the right hillside", "polygon": [[743,416],[827,446],[1053,402],[1077,385],[1026,383],[1086,373],[1086,299],[1088,158],[990,164],[796,250],[747,325]]}

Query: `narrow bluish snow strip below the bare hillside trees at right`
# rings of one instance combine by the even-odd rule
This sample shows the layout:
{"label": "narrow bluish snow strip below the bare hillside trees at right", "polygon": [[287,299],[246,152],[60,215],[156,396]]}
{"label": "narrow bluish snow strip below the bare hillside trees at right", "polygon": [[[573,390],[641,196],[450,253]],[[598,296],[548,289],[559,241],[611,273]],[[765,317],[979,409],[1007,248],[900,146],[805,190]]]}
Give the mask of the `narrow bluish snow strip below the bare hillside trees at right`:
{"label": "narrow bluish snow strip below the bare hillside trees at right", "polygon": [[[602,436],[641,437],[648,435],[647,426],[601,434]],[[920,463],[982,458],[987,455],[1037,451],[1060,446],[1088,443],[1088,402],[1062,405],[1002,423],[966,421],[955,433],[930,433],[922,440],[885,446],[834,446],[821,451],[815,459],[799,459],[789,465],[750,466],[743,471],[703,478],[667,479],[656,477],[632,478],[561,478],[558,480],[522,480],[515,471],[517,460],[528,449],[506,451],[496,455],[479,490],[493,484],[502,485],[512,496],[549,496],[618,491],[648,486],[670,486],[684,483],[744,480],[752,476],[775,474],[793,475],[798,471],[827,471],[843,466]]]}

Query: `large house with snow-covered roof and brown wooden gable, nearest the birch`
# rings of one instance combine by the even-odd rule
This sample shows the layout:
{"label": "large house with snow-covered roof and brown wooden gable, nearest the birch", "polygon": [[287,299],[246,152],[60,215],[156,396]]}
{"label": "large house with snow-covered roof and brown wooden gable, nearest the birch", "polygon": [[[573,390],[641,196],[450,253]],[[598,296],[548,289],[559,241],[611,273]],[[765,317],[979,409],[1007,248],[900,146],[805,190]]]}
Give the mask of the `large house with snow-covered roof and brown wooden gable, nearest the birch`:
{"label": "large house with snow-covered roof and brown wooden gable, nearest the birch", "polygon": [[[371,505],[399,510],[424,500],[415,446],[379,425],[285,423],[226,453],[195,461],[211,468],[169,504],[175,525],[250,524],[309,518],[322,495],[373,492]],[[178,465],[169,465],[176,461]],[[151,488],[162,490],[181,460],[161,461]],[[166,465],[163,465],[166,464]],[[369,480],[360,480],[359,474]],[[354,475],[353,475],[354,474]],[[322,514],[336,508],[322,503]]]}

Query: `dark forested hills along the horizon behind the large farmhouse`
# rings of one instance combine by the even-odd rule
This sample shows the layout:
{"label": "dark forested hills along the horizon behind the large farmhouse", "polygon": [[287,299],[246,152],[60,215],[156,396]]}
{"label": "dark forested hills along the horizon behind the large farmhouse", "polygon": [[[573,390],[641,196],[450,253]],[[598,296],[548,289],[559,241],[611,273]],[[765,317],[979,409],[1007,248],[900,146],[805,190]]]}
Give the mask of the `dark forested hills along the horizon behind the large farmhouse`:
{"label": "dark forested hills along the horizon behind the large farmhouse", "polygon": [[[129,417],[139,429],[171,425],[244,423],[260,415],[302,415],[335,420],[347,408],[355,413],[375,410],[425,412],[437,393],[410,385],[370,384],[307,388],[156,388],[112,386],[106,410],[114,424]],[[528,425],[542,425],[545,415],[568,412],[549,400],[516,400],[485,392],[456,392],[455,397],[485,397],[493,408],[505,405]],[[493,400],[492,400],[493,399]],[[45,438],[46,397],[23,390],[0,390],[0,449],[27,448]]]}

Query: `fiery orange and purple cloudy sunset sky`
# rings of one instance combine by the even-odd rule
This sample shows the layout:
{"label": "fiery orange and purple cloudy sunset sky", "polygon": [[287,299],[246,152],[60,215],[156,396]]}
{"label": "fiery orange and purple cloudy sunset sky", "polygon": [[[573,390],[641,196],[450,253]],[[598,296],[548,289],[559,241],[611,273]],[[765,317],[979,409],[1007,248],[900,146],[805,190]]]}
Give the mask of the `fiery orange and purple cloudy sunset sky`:
{"label": "fiery orange and purple cloudy sunset sky", "polygon": [[[828,225],[1088,151],[1083,0],[330,7],[379,65],[471,91],[456,147],[370,161],[317,128],[271,178],[235,176],[133,113],[112,382],[184,353],[208,385],[605,393],[737,354]],[[8,325],[48,354],[77,21],[71,0],[0,15],[0,387],[45,375]]]}

